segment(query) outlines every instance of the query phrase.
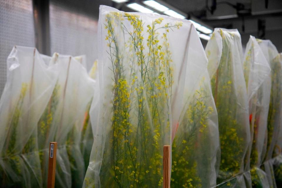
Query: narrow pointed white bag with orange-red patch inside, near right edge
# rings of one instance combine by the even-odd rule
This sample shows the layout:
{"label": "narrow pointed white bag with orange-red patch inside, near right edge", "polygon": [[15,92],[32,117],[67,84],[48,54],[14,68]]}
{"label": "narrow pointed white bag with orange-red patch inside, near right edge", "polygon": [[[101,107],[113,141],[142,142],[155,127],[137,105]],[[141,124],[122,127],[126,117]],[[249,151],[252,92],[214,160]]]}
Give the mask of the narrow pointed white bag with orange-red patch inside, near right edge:
{"label": "narrow pointed white bag with orange-red patch inside, near right edge", "polygon": [[[267,119],[271,91],[271,69],[259,43],[254,36],[246,46],[244,56],[244,76],[249,101],[251,131],[250,147],[245,156],[245,172],[251,173],[252,187],[269,187],[266,173],[260,169],[266,150]],[[247,184],[246,182],[246,184]]]}

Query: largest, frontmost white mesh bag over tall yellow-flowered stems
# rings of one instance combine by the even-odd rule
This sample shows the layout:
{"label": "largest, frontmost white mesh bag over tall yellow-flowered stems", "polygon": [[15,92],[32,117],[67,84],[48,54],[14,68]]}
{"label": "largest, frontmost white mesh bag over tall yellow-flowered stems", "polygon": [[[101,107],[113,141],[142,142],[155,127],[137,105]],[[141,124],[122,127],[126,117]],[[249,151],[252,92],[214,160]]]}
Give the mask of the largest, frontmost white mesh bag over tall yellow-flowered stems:
{"label": "largest, frontmost white mesh bag over tall yellow-flowered stems", "polygon": [[100,6],[98,31],[99,114],[84,187],[162,187],[194,28]]}

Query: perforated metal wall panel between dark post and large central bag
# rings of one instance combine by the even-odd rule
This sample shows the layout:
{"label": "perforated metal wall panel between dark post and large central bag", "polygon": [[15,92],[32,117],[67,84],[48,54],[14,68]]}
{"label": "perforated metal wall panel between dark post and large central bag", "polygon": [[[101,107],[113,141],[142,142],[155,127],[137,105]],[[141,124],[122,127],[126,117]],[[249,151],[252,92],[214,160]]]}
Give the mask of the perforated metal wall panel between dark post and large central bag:
{"label": "perforated metal wall panel between dark post and large central bag", "polygon": [[[98,57],[98,18],[85,14],[88,6],[94,5],[90,1],[83,4],[75,0],[50,1],[49,14],[51,54],[86,55],[89,70]],[[95,6],[96,9],[97,7]]]}

